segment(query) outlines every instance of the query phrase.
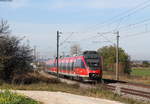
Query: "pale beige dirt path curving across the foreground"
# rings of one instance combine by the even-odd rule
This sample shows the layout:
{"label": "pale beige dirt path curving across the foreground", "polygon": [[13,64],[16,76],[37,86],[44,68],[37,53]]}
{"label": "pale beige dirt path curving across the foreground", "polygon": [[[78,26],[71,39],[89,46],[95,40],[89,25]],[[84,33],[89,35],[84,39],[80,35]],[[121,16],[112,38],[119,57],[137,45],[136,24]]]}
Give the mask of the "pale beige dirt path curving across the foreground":
{"label": "pale beige dirt path curving across the foreground", "polygon": [[44,104],[123,104],[116,101],[48,91],[15,91]]}

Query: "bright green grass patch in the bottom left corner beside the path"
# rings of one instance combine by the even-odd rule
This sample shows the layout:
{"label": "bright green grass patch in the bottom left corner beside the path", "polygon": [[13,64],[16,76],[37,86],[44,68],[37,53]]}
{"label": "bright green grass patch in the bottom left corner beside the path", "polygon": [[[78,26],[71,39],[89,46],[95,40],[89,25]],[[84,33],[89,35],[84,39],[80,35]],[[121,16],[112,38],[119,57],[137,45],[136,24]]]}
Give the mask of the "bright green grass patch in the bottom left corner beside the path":
{"label": "bright green grass patch in the bottom left corner beside the path", "polygon": [[39,104],[30,98],[4,90],[0,93],[0,104]]}

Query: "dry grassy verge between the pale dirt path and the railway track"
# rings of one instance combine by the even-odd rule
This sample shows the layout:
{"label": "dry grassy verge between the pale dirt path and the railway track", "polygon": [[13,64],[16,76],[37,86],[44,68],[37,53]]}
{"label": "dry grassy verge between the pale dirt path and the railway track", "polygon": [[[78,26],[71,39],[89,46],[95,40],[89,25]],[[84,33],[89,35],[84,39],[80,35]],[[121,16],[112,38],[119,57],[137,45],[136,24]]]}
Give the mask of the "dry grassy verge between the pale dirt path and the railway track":
{"label": "dry grassy verge between the pale dirt path and the railway track", "polygon": [[[66,83],[49,83],[49,84],[48,83],[37,83],[37,84],[30,84],[30,85],[3,84],[0,86],[0,88],[1,89],[9,88],[9,89],[16,89],[16,90],[61,91],[61,92],[67,92],[67,93],[83,95],[83,96],[106,98],[106,99],[110,99],[110,100],[124,102],[126,104],[148,104],[148,103],[139,102],[139,101],[136,101],[136,100],[133,100],[130,98],[124,98],[124,97],[114,94],[110,91],[107,91],[103,87],[98,87],[98,88],[94,88],[94,89],[93,88],[83,89],[83,88],[80,88],[79,85],[77,85],[77,84],[72,84],[72,85],[68,85]],[[28,103],[26,103],[26,104],[28,104]]]}

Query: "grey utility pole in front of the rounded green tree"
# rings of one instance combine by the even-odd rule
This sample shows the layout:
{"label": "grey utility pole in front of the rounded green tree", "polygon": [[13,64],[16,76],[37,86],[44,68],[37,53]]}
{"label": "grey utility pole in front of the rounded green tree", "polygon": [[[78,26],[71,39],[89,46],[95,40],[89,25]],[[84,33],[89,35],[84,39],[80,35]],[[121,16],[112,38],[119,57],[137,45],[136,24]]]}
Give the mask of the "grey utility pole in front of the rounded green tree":
{"label": "grey utility pole in front of the rounded green tree", "polygon": [[119,31],[117,31],[117,44],[116,44],[116,80],[119,80]]}

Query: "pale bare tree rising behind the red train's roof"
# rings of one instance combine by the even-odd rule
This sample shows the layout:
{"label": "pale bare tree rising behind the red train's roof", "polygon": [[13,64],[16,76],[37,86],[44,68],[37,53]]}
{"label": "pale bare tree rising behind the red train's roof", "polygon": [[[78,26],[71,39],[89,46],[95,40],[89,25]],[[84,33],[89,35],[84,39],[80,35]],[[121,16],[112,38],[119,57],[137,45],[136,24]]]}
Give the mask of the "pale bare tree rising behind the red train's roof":
{"label": "pale bare tree rising behind the red train's roof", "polygon": [[80,54],[81,53],[81,48],[79,44],[74,44],[70,47],[70,54]]}

